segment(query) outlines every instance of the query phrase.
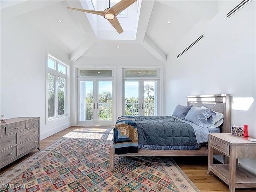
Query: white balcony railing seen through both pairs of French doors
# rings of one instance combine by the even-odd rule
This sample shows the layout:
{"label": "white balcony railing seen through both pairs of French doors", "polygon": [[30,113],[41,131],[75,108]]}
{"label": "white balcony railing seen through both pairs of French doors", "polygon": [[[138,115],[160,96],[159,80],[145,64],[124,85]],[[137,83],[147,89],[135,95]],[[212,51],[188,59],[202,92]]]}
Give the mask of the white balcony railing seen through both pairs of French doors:
{"label": "white balcony railing seen through both pairs of French doors", "polygon": [[[82,106],[81,106],[82,107]],[[84,110],[80,110],[80,120],[92,120],[93,119],[93,103],[86,103]],[[142,107],[142,106],[141,106]],[[80,108],[82,109],[82,108]],[[99,120],[112,120],[112,103],[99,103],[98,104],[98,117]],[[155,104],[144,103],[144,116],[155,115]],[[139,104],[138,103],[126,103],[125,104],[125,115],[139,115]]]}

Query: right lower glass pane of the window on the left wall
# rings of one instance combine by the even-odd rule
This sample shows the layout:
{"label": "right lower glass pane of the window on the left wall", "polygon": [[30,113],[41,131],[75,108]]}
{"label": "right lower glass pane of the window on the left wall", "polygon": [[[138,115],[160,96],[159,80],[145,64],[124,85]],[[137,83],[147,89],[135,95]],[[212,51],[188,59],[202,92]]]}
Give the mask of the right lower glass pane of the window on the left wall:
{"label": "right lower glass pane of the window on the left wall", "polygon": [[58,77],[58,110],[59,115],[65,114],[65,84],[66,79]]}

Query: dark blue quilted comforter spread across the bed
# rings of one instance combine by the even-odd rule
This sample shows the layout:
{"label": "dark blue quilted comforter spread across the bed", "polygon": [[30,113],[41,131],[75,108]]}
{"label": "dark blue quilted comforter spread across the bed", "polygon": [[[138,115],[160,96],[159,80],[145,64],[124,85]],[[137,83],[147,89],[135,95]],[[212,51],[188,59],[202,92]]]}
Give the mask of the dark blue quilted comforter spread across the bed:
{"label": "dark blue quilted comforter spread across the bed", "polygon": [[191,124],[174,116],[134,116],[138,147],[154,150],[196,150],[201,144]]}

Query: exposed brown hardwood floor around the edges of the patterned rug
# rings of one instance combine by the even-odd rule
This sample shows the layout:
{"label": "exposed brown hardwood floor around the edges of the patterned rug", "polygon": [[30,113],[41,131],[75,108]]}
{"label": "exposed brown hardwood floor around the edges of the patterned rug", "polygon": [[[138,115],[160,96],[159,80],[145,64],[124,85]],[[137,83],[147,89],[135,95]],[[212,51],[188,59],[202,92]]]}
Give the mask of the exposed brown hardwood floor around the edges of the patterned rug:
{"label": "exposed brown hardwood floor around the edges of the patterned rug", "polygon": [[[40,141],[41,150],[49,146],[60,137],[64,136],[68,132],[75,130],[77,127],[69,127],[62,130],[48,138]],[[8,171],[10,168],[16,166],[18,163],[22,162],[26,158],[30,157],[32,154],[38,152],[34,150],[27,154],[26,156],[16,160],[12,164],[5,166],[1,169],[0,174]],[[222,182],[215,175],[208,175],[208,157],[207,156],[192,156],[192,157],[172,157],[172,159],[180,166],[183,172],[192,180],[192,182],[198,187],[201,192],[229,192],[228,185]],[[256,192],[256,188],[239,188],[236,189],[237,192]]]}

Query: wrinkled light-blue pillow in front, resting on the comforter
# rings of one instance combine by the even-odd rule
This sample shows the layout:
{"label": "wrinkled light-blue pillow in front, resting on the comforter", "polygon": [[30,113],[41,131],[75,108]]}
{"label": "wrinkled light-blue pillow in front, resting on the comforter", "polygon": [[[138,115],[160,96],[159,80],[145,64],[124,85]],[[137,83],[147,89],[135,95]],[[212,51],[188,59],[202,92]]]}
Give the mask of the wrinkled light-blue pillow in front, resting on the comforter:
{"label": "wrinkled light-blue pillow in front, resting on the comforter", "polygon": [[207,128],[213,124],[215,116],[216,112],[211,109],[192,107],[188,111],[185,120]]}

